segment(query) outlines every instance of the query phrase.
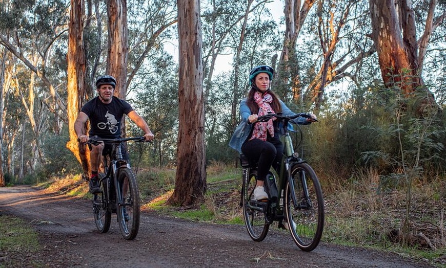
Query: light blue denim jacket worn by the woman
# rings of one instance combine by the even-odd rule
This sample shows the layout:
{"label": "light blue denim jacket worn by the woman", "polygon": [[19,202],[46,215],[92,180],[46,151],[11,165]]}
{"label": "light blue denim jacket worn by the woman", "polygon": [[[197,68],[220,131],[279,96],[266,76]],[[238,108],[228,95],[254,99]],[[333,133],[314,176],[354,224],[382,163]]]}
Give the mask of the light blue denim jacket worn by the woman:
{"label": "light blue denim jacket worn by the woman", "polygon": [[[248,117],[251,115],[251,110],[249,109],[248,105],[246,104],[246,98],[242,99],[240,102],[240,116],[241,116],[241,122],[238,124],[237,128],[234,130],[234,133],[232,135],[231,140],[229,141],[229,146],[233,148],[234,150],[237,150],[239,153],[241,153],[241,145],[248,139],[249,134],[251,133],[251,129],[253,124],[248,123]],[[284,116],[292,116],[295,115],[290,108],[283,103],[283,101],[279,100],[280,107],[282,109],[282,115]],[[294,120],[296,124],[299,125],[306,125],[310,124],[310,122],[307,121],[307,119],[298,117]],[[293,129],[293,126],[291,124],[288,125],[288,129]]]}

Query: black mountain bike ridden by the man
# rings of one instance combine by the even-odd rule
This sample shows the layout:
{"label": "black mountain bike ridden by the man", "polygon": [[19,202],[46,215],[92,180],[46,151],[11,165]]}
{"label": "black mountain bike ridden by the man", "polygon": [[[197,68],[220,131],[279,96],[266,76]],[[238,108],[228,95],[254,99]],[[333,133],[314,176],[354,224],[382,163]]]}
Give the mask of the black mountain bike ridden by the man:
{"label": "black mountain bike ridden by the man", "polygon": [[123,158],[121,143],[143,142],[144,137],[102,139],[90,137],[86,144],[111,144],[110,151],[103,152],[105,173],[98,174],[100,192],[93,194],[93,215],[100,233],[110,229],[112,213],[116,213],[119,229],[123,237],[131,240],[139,230],[140,208],[139,190],[136,176],[128,160]]}

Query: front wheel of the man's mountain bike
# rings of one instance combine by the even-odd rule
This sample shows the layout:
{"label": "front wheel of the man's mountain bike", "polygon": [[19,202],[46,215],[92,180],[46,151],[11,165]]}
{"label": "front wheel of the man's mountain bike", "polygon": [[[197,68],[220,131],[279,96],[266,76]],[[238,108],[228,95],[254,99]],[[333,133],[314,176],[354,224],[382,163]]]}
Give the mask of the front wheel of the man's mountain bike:
{"label": "front wheel of the man's mountain bike", "polygon": [[[118,170],[119,195],[122,204],[117,204],[119,229],[125,239],[136,237],[139,230],[139,190],[135,174],[129,168]],[[118,198],[119,199],[119,198]]]}

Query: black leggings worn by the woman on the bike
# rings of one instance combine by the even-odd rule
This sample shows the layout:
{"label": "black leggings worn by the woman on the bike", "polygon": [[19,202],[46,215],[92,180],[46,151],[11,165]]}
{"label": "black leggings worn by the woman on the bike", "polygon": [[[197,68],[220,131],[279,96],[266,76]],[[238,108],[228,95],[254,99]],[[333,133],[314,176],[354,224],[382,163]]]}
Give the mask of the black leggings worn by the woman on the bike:
{"label": "black leggings worn by the woman on the bike", "polygon": [[282,160],[283,144],[277,136],[277,133],[273,138],[268,135],[267,141],[247,140],[241,146],[241,152],[251,162],[257,163],[257,180],[259,181],[265,181],[271,166],[277,170]]}

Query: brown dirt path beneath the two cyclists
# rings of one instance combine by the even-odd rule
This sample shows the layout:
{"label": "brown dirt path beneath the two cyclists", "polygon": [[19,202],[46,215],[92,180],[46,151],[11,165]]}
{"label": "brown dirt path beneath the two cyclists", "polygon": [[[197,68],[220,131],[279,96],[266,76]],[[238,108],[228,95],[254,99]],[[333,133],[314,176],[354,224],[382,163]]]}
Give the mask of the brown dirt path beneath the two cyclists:
{"label": "brown dirt path beneath the two cyclists", "polygon": [[98,233],[90,204],[25,186],[0,188],[0,214],[32,222],[44,245],[39,254],[24,257],[45,267],[433,267],[395,254],[323,242],[313,252],[302,252],[285,231],[271,230],[264,241],[254,242],[244,226],[152,212],[141,214],[138,236],[127,241],[115,216],[110,231]]}

